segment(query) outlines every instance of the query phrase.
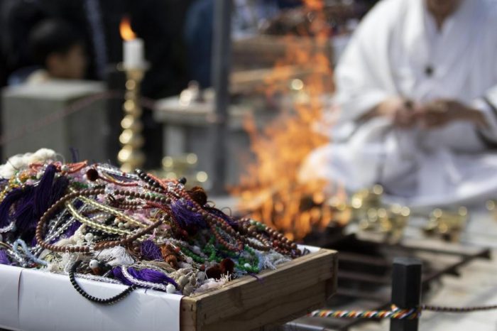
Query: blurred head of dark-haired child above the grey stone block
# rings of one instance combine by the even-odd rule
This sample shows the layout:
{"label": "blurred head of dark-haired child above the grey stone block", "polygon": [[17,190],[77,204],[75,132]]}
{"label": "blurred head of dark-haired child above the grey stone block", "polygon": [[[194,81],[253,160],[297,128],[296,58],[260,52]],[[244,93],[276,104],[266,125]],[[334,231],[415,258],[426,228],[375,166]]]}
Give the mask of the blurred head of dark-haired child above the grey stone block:
{"label": "blurred head of dark-haired child above the grey stone block", "polygon": [[31,31],[28,44],[40,69],[26,78],[27,83],[84,78],[87,69],[84,42],[69,23],[55,19],[38,23]]}

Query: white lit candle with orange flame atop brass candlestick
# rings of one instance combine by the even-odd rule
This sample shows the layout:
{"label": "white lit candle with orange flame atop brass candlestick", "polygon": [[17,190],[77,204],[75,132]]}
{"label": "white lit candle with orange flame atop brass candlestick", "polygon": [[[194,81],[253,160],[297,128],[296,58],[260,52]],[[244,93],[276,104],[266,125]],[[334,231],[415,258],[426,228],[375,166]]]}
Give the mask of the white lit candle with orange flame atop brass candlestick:
{"label": "white lit candle with orange flame atop brass candlestick", "polygon": [[123,43],[123,64],[125,69],[140,69],[145,66],[143,39],[136,38],[131,30],[129,18],[124,17],[119,26]]}

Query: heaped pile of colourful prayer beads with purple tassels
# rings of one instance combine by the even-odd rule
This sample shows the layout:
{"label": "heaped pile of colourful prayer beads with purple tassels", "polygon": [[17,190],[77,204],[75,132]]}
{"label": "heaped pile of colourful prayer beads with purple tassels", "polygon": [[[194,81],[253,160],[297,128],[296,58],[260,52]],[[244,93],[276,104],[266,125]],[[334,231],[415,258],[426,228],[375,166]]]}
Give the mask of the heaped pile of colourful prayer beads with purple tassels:
{"label": "heaped pile of colourful prayer beads with purple tassels", "polygon": [[[226,215],[185,183],[86,161],[16,168],[0,181],[0,264],[67,274],[84,298],[110,304],[135,288],[202,293],[302,255],[283,234]],[[96,298],[77,278],[129,287]]]}

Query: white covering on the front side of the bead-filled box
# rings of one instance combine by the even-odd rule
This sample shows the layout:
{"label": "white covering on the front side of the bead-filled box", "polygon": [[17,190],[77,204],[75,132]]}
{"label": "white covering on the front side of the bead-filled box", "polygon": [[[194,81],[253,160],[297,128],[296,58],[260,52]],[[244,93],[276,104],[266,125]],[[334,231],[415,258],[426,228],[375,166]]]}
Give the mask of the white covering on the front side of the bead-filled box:
{"label": "white covering on the front side of the bead-filled box", "polygon": [[[109,298],[121,284],[77,278],[84,291]],[[0,264],[0,328],[26,331],[180,331],[182,295],[138,289],[115,305],[77,293],[67,276]],[[1,329],[4,330],[4,329]]]}

